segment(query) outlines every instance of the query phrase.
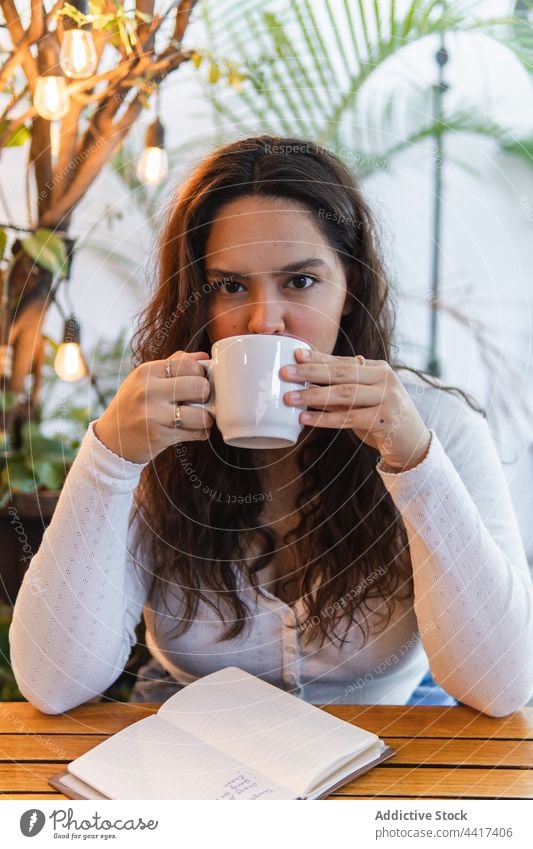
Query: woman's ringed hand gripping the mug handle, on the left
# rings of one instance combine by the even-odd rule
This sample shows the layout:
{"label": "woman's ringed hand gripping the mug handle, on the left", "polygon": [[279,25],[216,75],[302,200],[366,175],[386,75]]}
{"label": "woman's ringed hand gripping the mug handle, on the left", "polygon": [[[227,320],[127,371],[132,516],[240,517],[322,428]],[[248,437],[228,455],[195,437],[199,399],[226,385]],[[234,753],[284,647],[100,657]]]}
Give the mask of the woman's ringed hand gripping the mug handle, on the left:
{"label": "woman's ringed hand gripping the mug handle, on the left", "polygon": [[215,420],[201,407],[183,406],[183,427],[174,427],[176,404],[209,398],[209,381],[198,363],[209,355],[176,351],[170,359],[170,378],[166,359],[137,366],[94,424],[98,439],[125,460],[147,463],[169,445],[209,438]]}

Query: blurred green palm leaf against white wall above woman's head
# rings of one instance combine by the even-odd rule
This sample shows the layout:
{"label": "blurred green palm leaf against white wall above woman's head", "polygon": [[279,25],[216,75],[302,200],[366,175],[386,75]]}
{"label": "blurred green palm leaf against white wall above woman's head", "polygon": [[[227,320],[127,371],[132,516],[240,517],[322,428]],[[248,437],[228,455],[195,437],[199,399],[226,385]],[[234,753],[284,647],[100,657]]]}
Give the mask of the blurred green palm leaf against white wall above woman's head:
{"label": "blurred green palm leaf against white wall above woman's head", "polygon": [[[406,45],[443,31],[482,31],[511,47],[526,64],[533,55],[531,27],[512,17],[483,20],[479,4],[459,0],[249,0],[204,3],[210,49],[254,68],[240,93],[210,96],[223,134],[271,132],[314,138],[334,150],[384,160],[439,127],[432,121],[431,88],[411,84],[420,108],[406,110],[396,92],[363,97],[368,84]],[[209,7],[209,8],[208,8]],[[405,88],[405,86],[404,86]],[[405,97],[402,94],[402,97]],[[402,123],[403,121],[403,123]],[[220,125],[219,125],[220,126]],[[230,129],[231,128],[231,129]],[[498,138],[499,128],[458,112],[441,129],[468,129]]]}

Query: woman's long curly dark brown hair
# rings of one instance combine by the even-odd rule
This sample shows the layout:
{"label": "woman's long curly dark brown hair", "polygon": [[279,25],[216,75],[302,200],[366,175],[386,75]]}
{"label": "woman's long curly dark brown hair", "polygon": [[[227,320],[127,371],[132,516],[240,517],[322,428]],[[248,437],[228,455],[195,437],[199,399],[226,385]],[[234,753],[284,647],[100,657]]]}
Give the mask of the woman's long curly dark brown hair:
{"label": "woman's long curly dark brown hair", "polygon": [[[210,351],[204,273],[209,228],[223,204],[251,195],[286,198],[311,211],[344,264],[355,308],[341,319],[333,354],[363,351],[391,362],[390,291],[375,222],[354,176],[319,145],[260,135],[217,149],[177,193],[161,236],[157,283],[133,338],[134,365],[178,350]],[[306,431],[297,457],[299,524],[284,540],[300,564],[307,614],[300,627],[310,640],[342,644],[357,621],[365,642],[369,599],[378,599],[372,615],[380,631],[397,600],[412,594],[405,527],[376,471],[374,448],[349,428]],[[193,474],[201,486],[194,485]],[[261,524],[263,501],[250,497],[260,491],[250,451],[226,445],[216,425],[208,442],[169,447],[143,470],[135,556],[167,607],[177,592],[176,635],[190,626],[200,599],[227,626],[222,640],[248,623],[239,572],[261,593],[259,573],[276,549],[274,534]],[[213,493],[231,493],[232,499]],[[245,556],[250,534],[261,544],[253,566]]]}

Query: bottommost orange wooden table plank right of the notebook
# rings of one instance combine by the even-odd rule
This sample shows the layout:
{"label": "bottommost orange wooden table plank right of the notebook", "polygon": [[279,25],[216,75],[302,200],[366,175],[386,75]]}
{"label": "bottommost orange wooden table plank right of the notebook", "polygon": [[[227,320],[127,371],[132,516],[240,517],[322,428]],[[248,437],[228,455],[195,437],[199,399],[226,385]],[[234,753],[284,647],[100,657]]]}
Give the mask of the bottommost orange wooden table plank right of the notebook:
{"label": "bottommost orange wooden table plank right of the notebook", "polygon": [[457,769],[376,767],[337,796],[437,796],[449,799],[533,799],[533,771],[521,769]]}

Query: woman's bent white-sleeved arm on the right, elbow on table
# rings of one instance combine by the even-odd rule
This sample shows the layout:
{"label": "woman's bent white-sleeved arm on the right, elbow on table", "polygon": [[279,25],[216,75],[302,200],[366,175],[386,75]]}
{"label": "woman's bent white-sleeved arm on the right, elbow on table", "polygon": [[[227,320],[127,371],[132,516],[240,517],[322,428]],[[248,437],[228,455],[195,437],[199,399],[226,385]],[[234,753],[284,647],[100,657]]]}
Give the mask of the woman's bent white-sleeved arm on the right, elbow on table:
{"label": "woman's bent white-sleeved arm on the right, elbow on table", "polygon": [[[451,695],[505,715],[522,707],[533,687],[527,562],[483,435],[465,454],[461,476],[433,442],[421,466],[383,476],[408,533],[422,642],[433,677]],[[469,473],[472,465],[479,468]]]}

